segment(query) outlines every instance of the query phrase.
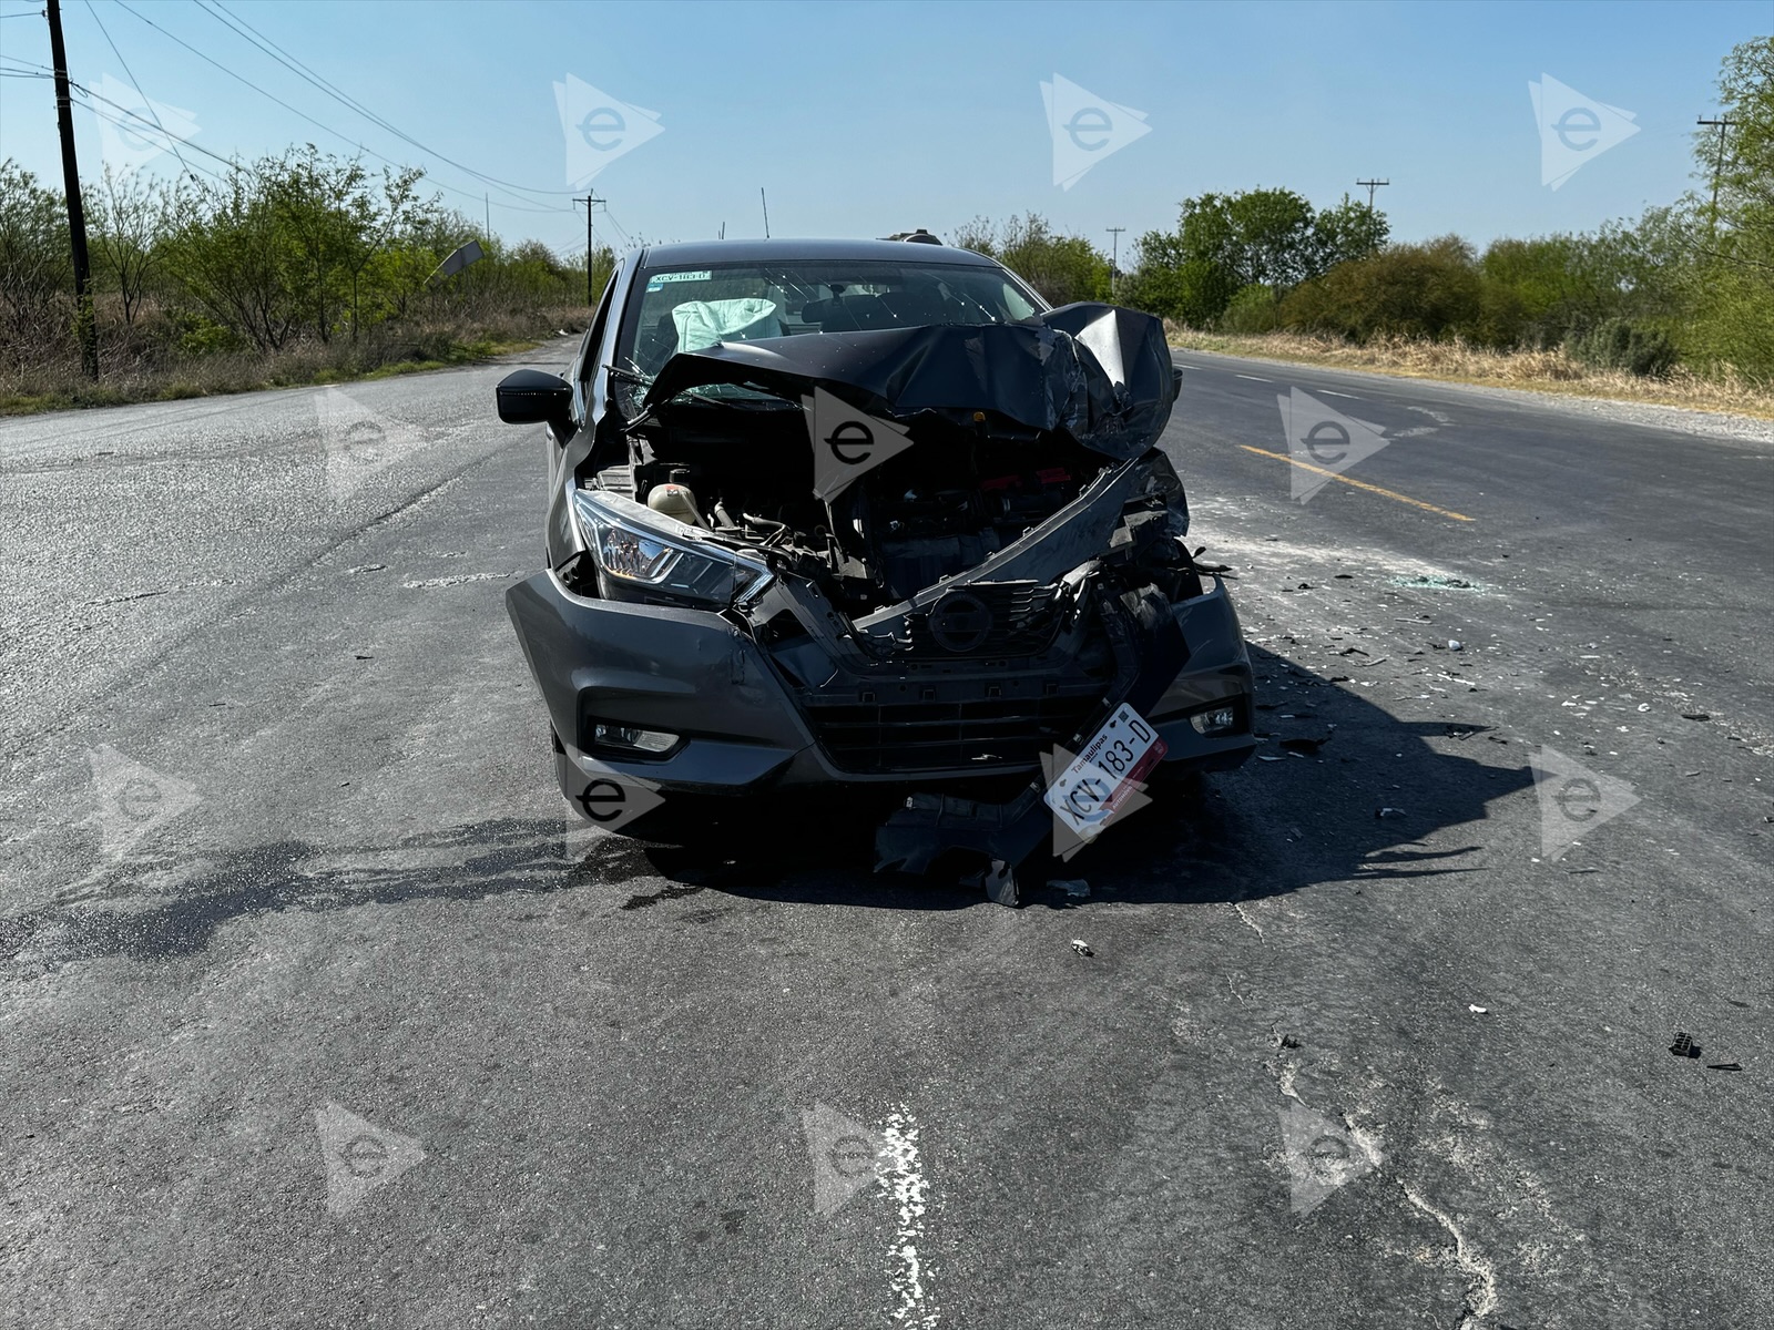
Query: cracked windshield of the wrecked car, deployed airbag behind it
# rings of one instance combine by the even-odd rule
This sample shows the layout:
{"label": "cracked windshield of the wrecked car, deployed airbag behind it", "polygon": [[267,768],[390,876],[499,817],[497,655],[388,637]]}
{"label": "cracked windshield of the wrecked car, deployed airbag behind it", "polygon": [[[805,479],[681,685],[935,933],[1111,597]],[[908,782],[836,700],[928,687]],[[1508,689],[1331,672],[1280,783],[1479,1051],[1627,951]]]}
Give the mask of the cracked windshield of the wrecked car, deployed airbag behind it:
{"label": "cracked windshield of the wrecked car, deployed airbag behind it", "polygon": [[[646,395],[648,383],[678,351],[722,340],[931,323],[1022,323],[1040,314],[1036,300],[1009,273],[976,264],[742,262],[655,268],[635,280],[640,298],[628,301],[616,348],[630,403]],[[750,395],[733,385],[694,392]]]}

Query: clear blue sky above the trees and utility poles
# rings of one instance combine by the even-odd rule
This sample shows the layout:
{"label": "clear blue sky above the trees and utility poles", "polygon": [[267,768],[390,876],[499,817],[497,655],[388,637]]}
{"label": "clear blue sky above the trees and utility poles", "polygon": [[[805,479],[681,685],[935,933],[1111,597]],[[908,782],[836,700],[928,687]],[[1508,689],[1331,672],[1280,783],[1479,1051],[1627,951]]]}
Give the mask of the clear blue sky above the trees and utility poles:
{"label": "clear blue sky above the trees and utility poles", "polygon": [[[204,5],[245,20],[461,167],[330,99]],[[0,0],[0,14],[16,14],[0,18],[0,67],[50,64],[39,9],[41,0]],[[692,239],[722,225],[729,236],[761,234],[757,192],[766,188],[779,236],[915,225],[946,234],[976,215],[1038,211],[1107,248],[1107,227],[1126,227],[1126,243],[1174,225],[1185,195],[1284,184],[1323,206],[1359,193],[1354,183],[1368,176],[1393,181],[1378,202],[1394,238],[1456,231],[1485,243],[1636,216],[1689,188],[1694,119],[1717,110],[1719,60],[1731,44],[1774,32],[1774,0],[64,0],[64,27],[76,82],[133,82],[154,103],[190,112],[190,138],[209,153],[250,156],[314,142],[351,154],[362,145],[426,167],[435,186],[451,186],[445,200],[474,218],[491,193],[495,232],[561,250],[585,234],[569,199],[577,181],[555,101],[555,83],[569,74],[658,115],[649,140],[591,158],[601,165],[593,188],[608,199],[600,238],[617,246],[623,234]],[[1148,129],[1089,158],[1089,172],[1070,190],[1054,184],[1040,89],[1056,74],[1111,106],[1119,124],[1128,124],[1121,108],[1144,113]],[[1543,74],[1632,112],[1637,124],[1558,190],[1542,184],[1527,89]],[[106,87],[115,101],[135,103]],[[582,99],[575,113],[580,108]],[[639,122],[633,112],[617,115],[624,128]],[[605,117],[594,128],[608,124]],[[85,177],[99,170],[101,129],[119,142],[76,112]],[[0,78],[5,156],[60,179],[48,82]],[[186,158],[215,167],[193,151]],[[169,172],[177,163],[160,156],[144,168]],[[486,184],[470,170],[523,188]]]}

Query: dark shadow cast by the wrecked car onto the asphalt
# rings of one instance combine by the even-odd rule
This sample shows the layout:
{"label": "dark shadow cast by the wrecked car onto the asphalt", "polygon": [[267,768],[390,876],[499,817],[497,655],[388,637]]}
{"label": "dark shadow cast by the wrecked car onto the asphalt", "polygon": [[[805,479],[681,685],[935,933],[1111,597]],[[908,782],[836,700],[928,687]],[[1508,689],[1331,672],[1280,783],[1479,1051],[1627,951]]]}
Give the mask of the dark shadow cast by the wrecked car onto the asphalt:
{"label": "dark shadow cast by the wrecked car onto the asphalt", "polygon": [[[1362,681],[1323,676],[1251,647],[1258,674],[1256,757],[1205,786],[1155,786],[1153,802],[1061,862],[1024,862],[1024,903],[1064,908],[1054,880],[1084,878],[1098,899],[1249,901],[1322,881],[1430,878],[1472,871],[1490,805],[1533,782],[1526,755],[1474,718],[1471,693],[1444,693],[1435,720],[1398,720]],[[1393,697],[1398,679],[1371,685]],[[1435,697],[1433,693],[1430,695]],[[1416,700],[1416,697],[1412,697]],[[947,880],[873,874],[878,809],[807,796],[718,812],[688,844],[653,846],[653,869],[733,896],[953,910],[983,890]],[[1437,835],[1474,828],[1448,844]]]}

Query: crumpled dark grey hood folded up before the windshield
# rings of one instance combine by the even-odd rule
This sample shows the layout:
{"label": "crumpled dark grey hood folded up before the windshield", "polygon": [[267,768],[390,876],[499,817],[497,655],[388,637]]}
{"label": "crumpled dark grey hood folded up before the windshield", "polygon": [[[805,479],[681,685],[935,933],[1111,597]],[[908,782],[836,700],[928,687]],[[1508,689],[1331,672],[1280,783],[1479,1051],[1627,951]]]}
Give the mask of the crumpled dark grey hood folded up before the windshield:
{"label": "crumpled dark grey hood folded up before the windshield", "polygon": [[1171,351],[1151,314],[1082,301],[1034,323],[926,325],[802,333],[679,351],[648,388],[660,406],[704,383],[784,397],[825,388],[871,415],[988,411],[1064,431],[1118,461],[1150,449],[1171,419]]}

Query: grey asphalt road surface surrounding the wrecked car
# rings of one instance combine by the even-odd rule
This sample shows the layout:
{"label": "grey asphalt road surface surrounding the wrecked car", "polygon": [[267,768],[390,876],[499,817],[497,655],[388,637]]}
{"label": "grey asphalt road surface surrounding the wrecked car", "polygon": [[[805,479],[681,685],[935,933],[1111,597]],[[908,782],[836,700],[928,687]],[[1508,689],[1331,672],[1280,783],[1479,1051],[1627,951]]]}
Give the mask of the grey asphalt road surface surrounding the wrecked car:
{"label": "grey asphalt road surface surrounding the wrecked car", "polygon": [[502,367],[0,422],[0,1323],[1767,1326],[1774,445],[1180,360],[1268,761],[1017,911],[568,819]]}

